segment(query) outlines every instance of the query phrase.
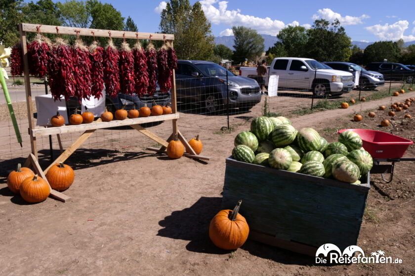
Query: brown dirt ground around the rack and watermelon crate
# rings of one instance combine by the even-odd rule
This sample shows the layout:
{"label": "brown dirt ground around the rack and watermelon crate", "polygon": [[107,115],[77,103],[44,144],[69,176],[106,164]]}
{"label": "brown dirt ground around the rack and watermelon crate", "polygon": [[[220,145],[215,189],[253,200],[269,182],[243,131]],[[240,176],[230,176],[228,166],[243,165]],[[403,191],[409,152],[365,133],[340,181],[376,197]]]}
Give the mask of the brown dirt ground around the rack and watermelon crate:
{"label": "brown dirt ground around the rack and watermelon crate", "polygon": [[[415,92],[291,119],[297,129],[312,126],[329,141],[338,129],[351,127],[414,140],[414,118],[403,120],[399,112],[392,127],[380,128],[387,111],[376,110],[409,97]],[[288,114],[301,101],[273,98],[270,108]],[[367,110],[376,110],[376,117]],[[351,121],[355,111],[363,121]],[[415,104],[408,112],[415,116]],[[71,197],[67,203],[48,198],[27,205],[0,178],[0,275],[415,275],[413,162],[398,163],[388,184],[373,175],[358,240],[365,253],[380,249],[402,264],[320,266],[314,258],[253,241],[233,252],[212,245],[207,227],[221,208],[224,160],[236,134],[260,113],[257,105],[232,115],[230,133],[218,131],[219,121],[183,114],[179,126],[188,138],[200,134],[203,154],[212,158],[207,163],[151,154],[144,150],[151,143],[141,140],[75,154],[68,160],[76,179],[64,192]],[[165,136],[171,131],[167,123],[152,129]],[[407,155],[415,156],[413,145]]]}

